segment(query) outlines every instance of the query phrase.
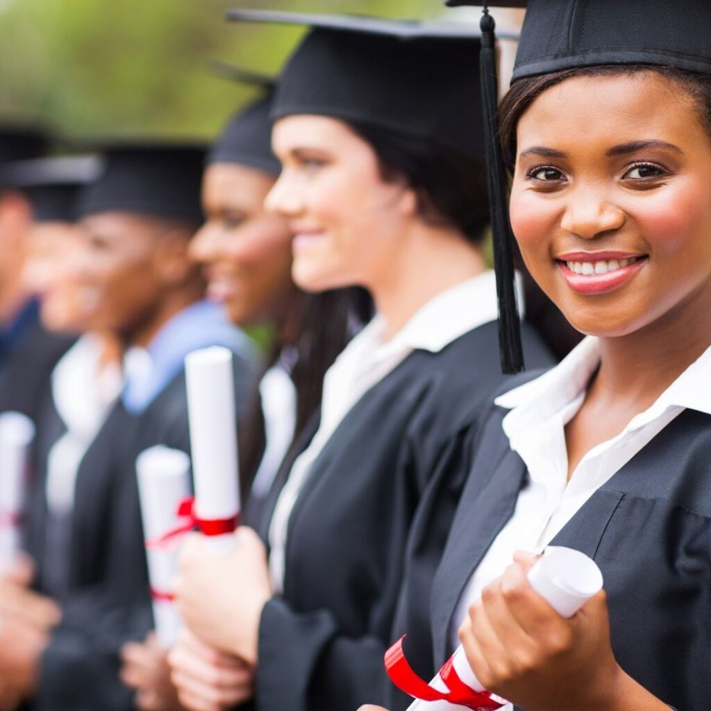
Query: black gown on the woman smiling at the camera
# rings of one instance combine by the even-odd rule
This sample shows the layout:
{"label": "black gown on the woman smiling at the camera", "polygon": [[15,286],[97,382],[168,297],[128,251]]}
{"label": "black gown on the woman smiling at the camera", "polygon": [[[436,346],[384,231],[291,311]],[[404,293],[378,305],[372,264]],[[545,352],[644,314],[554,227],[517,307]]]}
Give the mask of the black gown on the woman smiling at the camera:
{"label": "black gown on the woman smiling at the camera", "polygon": [[[451,655],[449,631],[459,597],[513,515],[526,481],[525,464],[501,429],[508,412],[493,408],[471,438],[474,461],[439,565],[432,563],[437,542],[428,548],[426,530],[419,531],[408,557],[392,639],[407,633],[408,661],[425,679]],[[707,710],[711,417],[683,411],[595,491],[550,545],[580,550],[602,570],[621,668],[680,711]],[[422,584],[427,575],[434,580],[431,599]],[[400,711],[410,702],[390,685],[388,708]]]}

